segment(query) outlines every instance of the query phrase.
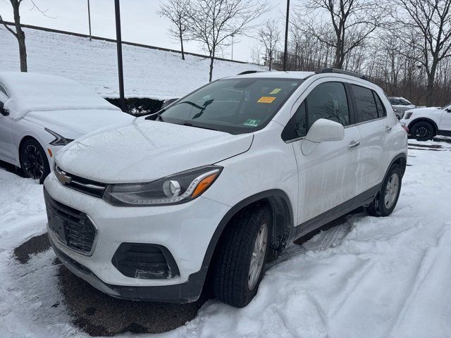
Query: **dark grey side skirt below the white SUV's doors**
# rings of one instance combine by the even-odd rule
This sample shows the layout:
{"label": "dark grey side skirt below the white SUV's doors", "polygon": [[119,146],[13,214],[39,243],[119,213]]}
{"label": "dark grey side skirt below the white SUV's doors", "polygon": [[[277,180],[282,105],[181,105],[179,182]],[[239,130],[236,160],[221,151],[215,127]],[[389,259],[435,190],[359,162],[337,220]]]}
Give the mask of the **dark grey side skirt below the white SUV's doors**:
{"label": "dark grey side skirt below the white SUV's doors", "polygon": [[319,227],[322,227],[323,225],[326,225],[330,221],[335,220],[335,218],[339,218],[342,215],[353,211],[355,208],[359,208],[359,206],[364,206],[371,203],[376,194],[378,194],[378,191],[381,188],[381,184],[378,184],[371,189],[366,190],[366,192],[362,192],[362,194],[359,194],[354,198],[345,201],[338,206],[335,206],[335,208],[332,208],[325,213],[321,213],[321,215],[317,215],[316,217],[311,218],[310,220],[307,220],[302,224],[299,224],[297,227],[295,227],[295,235],[290,240],[290,242],[295,241],[296,239],[318,229]]}

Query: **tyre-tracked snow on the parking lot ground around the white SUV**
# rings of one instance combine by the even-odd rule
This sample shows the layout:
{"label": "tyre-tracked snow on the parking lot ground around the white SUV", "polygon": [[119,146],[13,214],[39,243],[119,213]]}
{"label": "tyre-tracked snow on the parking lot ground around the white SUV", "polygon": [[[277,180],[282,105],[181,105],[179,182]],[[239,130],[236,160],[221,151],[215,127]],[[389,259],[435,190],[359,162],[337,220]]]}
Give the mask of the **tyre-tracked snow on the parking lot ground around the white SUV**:
{"label": "tyre-tracked snow on the parking lot ground around the white SUV", "polygon": [[[161,337],[450,337],[447,142],[409,140],[393,215],[349,216],[292,246],[246,308],[208,301]],[[45,231],[42,187],[4,170],[0,187],[0,337],[84,337],[61,301],[51,250],[27,265],[12,257],[15,246]]]}

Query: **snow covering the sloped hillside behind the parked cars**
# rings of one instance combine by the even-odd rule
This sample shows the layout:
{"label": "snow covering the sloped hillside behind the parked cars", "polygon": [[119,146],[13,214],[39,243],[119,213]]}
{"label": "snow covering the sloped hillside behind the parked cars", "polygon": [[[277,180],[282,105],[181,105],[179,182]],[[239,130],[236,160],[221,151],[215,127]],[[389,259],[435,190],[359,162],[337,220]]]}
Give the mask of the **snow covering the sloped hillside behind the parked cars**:
{"label": "snow covering the sloped hillside behind the parked cars", "polygon": [[[25,28],[28,70],[78,80],[104,97],[118,97],[116,44]],[[0,27],[0,71],[18,71],[18,42]],[[127,97],[170,99],[180,97],[209,80],[209,60],[187,55],[123,45],[124,87]],[[215,61],[214,79],[245,70],[264,70],[259,65]]]}

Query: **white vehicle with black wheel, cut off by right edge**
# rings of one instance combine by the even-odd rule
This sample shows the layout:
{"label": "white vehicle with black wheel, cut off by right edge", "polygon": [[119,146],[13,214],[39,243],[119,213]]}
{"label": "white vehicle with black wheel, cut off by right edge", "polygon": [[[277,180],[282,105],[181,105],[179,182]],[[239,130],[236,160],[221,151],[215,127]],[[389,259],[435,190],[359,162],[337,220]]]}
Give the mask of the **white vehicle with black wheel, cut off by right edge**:
{"label": "white vehicle with black wheel, cut off by right edge", "polygon": [[432,139],[435,135],[451,136],[451,104],[443,108],[416,108],[404,113],[400,123],[418,141]]}

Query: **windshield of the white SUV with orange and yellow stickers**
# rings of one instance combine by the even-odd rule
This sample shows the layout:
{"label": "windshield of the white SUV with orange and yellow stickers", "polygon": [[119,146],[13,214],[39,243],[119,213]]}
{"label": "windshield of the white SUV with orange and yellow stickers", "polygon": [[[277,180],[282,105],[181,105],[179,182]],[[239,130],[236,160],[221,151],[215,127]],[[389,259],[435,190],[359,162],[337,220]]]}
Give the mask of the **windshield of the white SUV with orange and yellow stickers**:
{"label": "windshield of the white SUV with orange and yellow stickers", "polygon": [[263,128],[303,80],[242,78],[211,82],[160,114],[170,123],[232,134]]}

